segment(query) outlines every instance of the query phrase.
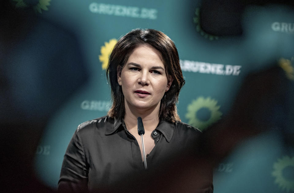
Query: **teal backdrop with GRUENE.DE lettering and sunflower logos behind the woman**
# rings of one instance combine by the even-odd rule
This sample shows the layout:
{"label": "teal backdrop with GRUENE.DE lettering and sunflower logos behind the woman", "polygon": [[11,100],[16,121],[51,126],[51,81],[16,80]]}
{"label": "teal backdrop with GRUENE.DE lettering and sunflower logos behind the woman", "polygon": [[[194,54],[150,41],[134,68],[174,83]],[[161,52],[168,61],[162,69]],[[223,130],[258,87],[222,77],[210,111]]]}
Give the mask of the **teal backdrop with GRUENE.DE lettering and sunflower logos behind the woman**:
{"label": "teal backdrop with GRUENE.DE lettering and sunflower logos behind the woman", "polygon": [[[130,30],[154,28],[175,42],[186,80],[179,116],[200,130],[228,113],[249,73],[277,65],[281,58],[289,65],[294,61],[294,11],[282,5],[247,6],[243,35],[218,37],[201,29],[199,0],[12,2],[74,33],[89,73],[88,82],[50,117],[36,151],[36,175],[53,188],[77,126],[104,116],[111,105],[105,65],[117,39]],[[239,144],[215,168],[214,191],[294,192],[294,151],[284,147],[280,135],[270,131]]]}

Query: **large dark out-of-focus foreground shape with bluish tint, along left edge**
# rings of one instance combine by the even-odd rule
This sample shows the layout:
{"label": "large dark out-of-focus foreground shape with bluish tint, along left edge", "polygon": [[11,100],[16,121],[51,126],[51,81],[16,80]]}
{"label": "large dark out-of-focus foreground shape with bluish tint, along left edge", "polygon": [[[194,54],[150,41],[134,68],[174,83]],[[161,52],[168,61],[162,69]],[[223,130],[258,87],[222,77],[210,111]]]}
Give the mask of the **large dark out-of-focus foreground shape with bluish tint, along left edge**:
{"label": "large dark out-of-focus foreground shape with bluish tint, along left edge", "polygon": [[0,3],[1,191],[52,192],[34,176],[37,144],[49,117],[85,84],[76,38],[32,9]]}

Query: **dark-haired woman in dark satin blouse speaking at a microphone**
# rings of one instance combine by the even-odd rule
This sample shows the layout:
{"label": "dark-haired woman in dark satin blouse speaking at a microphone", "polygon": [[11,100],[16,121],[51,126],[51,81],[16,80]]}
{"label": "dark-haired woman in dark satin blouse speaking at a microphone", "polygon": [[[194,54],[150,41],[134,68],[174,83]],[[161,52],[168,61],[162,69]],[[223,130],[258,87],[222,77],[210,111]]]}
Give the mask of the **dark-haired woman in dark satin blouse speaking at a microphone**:
{"label": "dark-haired woman in dark satin blouse speaking at a microphone", "polygon": [[175,44],[164,33],[127,33],[112,50],[106,73],[112,107],[107,116],[78,126],[64,156],[59,190],[94,191],[144,171],[138,117],[150,171],[176,158],[200,134],[180,122],[176,103],[185,81]]}

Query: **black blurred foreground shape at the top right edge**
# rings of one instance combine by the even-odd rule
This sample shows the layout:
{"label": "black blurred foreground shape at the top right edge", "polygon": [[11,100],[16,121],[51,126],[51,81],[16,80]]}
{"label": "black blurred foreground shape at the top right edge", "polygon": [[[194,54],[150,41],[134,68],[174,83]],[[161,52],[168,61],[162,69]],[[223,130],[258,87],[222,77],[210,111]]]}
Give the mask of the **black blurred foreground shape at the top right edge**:
{"label": "black blurred foreground shape at the top right edge", "polygon": [[242,14],[249,5],[282,4],[294,6],[287,0],[203,0],[200,25],[211,35],[242,35]]}

